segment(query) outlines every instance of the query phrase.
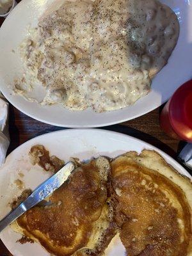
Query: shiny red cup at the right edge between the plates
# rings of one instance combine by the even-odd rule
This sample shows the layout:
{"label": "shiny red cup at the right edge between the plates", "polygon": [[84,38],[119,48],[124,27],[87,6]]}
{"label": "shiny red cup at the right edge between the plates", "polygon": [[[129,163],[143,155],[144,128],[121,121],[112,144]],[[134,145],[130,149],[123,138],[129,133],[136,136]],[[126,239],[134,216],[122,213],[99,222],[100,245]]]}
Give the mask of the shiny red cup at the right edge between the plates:
{"label": "shiny red cup at the right edge between the plates", "polygon": [[192,80],[184,83],[159,116],[161,128],[176,140],[192,142]]}

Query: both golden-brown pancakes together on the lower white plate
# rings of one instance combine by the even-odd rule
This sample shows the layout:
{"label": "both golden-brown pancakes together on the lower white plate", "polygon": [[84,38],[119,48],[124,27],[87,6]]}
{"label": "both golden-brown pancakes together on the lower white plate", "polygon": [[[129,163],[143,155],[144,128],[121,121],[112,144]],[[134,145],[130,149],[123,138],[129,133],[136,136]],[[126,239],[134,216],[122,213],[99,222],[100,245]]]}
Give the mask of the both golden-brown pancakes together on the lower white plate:
{"label": "both golden-brown pancakes together on the lower white plate", "polygon": [[[33,164],[42,166],[45,148],[35,147]],[[31,152],[34,160],[37,150]],[[49,204],[20,216],[14,230],[58,256],[104,255],[116,234],[129,256],[192,255],[191,181],[157,152],[74,161],[67,184],[47,198]]]}

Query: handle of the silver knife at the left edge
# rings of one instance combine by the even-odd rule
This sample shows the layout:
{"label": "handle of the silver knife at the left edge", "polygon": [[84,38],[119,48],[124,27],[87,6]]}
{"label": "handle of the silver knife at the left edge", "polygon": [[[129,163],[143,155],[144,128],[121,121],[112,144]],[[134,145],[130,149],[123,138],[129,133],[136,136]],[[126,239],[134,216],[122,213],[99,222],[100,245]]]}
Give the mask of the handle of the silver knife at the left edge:
{"label": "handle of the silver knife at the left edge", "polygon": [[26,207],[22,203],[20,204],[15,210],[8,213],[3,220],[0,221],[0,232],[8,225],[10,225],[14,220],[19,218],[20,215],[22,215],[24,212],[26,212]]}

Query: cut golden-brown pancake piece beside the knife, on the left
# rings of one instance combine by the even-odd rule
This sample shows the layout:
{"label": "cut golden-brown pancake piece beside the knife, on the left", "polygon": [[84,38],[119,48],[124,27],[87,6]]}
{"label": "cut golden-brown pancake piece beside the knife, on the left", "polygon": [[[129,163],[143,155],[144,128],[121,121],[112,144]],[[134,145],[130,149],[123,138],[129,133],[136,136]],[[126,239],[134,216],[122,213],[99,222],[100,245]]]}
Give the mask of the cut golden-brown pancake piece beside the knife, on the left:
{"label": "cut golden-brown pancake piece beside the knife, on the left", "polygon": [[100,255],[109,242],[109,168],[105,157],[81,164],[49,197],[51,205],[33,207],[17,220],[17,231],[54,255]]}

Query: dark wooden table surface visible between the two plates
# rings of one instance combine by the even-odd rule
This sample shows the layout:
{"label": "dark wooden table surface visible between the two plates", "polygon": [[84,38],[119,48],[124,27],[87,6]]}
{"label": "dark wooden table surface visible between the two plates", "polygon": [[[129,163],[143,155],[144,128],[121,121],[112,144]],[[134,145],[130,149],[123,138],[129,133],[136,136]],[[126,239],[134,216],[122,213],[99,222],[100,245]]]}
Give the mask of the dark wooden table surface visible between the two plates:
{"label": "dark wooden table surface visible between the two plates", "polygon": [[[17,2],[20,1],[17,0]],[[0,19],[0,26],[2,23],[3,19]],[[179,152],[180,148],[183,147],[184,142],[173,140],[164,134],[163,131],[161,131],[161,128],[159,127],[159,111],[159,109],[156,109],[147,115],[141,116],[140,118],[136,118],[120,125],[104,127],[102,129],[122,132],[143,141],[147,141],[176,159],[177,152]],[[9,121],[11,143],[10,148],[8,149],[8,154],[31,138],[47,132],[63,129],[62,127],[54,127],[52,125],[38,122],[24,115],[19,110],[15,109],[11,104]],[[12,254],[8,252],[0,240],[0,256],[11,255]]]}

